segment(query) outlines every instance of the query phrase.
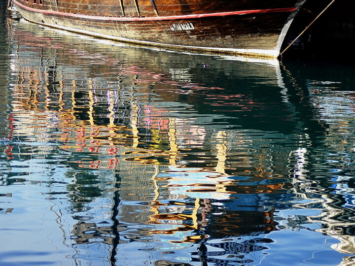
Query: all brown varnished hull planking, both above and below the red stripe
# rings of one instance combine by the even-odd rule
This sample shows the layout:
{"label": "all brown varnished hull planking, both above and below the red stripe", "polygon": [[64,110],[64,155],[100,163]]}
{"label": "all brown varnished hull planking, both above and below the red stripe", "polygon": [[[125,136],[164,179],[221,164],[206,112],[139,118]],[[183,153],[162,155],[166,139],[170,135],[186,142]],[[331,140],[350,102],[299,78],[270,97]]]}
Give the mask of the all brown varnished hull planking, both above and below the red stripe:
{"label": "all brown varnished hull planking, both above and below the red stripe", "polygon": [[[54,12],[36,14],[26,10],[27,6],[37,8],[29,3],[19,1],[19,11],[30,21],[53,26],[78,33],[97,35],[129,42],[144,42],[147,45],[211,47],[218,49],[255,49],[275,51],[279,35],[284,27],[291,7],[297,0],[286,1],[207,1],[207,0],[154,0],[159,17],[219,13],[236,10],[257,10],[262,8],[284,8],[281,11],[255,11],[254,14],[235,14],[213,17],[191,17],[177,20],[154,20],[150,0],[137,0],[140,15],[152,18],[152,21],[139,19],[135,0],[122,0],[124,14],[118,0],[45,0],[41,8]],[[232,3],[231,3],[232,2]],[[53,5],[55,4],[55,5]],[[80,16],[81,14],[81,16]],[[91,17],[86,17],[86,15]],[[124,16],[124,17],[123,17]],[[107,19],[106,19],[107,17]],[[137,21],[118,21],[109,18],[138,18]],[[141,20],[141,21],[140,21]],[[122,39],[124,38],[124,39]],[[273,52],[275,51],[275,52]]]}

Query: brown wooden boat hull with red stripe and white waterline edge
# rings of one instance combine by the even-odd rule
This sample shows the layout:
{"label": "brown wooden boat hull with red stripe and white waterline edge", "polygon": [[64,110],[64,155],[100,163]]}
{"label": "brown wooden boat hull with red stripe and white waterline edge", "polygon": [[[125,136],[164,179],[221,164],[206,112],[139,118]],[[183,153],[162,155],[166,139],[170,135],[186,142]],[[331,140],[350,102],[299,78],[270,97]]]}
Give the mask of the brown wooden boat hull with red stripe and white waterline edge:
{"label": "brown wooden boat hull with red stripe and white waterline edge", "polygon": [[[134,10],[132,4],[125,1],[126,6],[131,7],[128,10]],[[164,10],[162,5],[145,13],[145,9],[141,7],[140,11],[138,6],[136,13],[120,13],[118,10],[122,11],[122,8],[118,5],[115,12],[106,10],[100,13],[90,11],[93,9],[90,5],[87,5],[87,10],[79,10],[74,7],[59,8],[58,2],[53,5],[52,0],[48,1],[47,6],[14,0],[17,10],[25,19],[71,32],[174,50],[273,58],[279,56],[284,35],[303,2],[304,0],[280,1],[279,5],[283,7],[260,4],[263,7],[261,9],[247,9],[251,6],[241,4],[246,10],[232,9],[238,6],[238,3],[234,3],[229,6],[221,5],[224,9],[215,7],[214,12],[197,11],[190,7],[186,11],[165,13],[160,11]],[[94,7],[100,9],[103,5]],[[78,6],[78,3],[73,6]],[[153,12],[157,9],[160,11],[159,15]]]}

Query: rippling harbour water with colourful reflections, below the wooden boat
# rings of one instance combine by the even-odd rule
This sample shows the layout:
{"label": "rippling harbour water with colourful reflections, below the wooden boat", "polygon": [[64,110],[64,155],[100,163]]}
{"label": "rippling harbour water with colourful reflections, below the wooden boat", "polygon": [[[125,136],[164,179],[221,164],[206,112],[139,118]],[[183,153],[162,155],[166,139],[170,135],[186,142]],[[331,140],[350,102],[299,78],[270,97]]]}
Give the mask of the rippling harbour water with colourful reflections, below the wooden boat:
{"label": "rippling harbour water with colourful reflections, below the wooden boat", "polygon": [[355,264],[355,67],[0,17],[0,265]]}

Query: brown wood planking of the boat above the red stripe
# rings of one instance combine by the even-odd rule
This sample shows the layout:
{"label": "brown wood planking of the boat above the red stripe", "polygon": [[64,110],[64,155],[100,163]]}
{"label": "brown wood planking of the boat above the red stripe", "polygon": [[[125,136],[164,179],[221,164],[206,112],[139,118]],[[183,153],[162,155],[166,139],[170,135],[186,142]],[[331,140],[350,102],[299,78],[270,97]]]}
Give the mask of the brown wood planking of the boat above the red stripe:
{"label": "brown wood planking of the boat above the red stripe", "polygon": [[[44,0],[44,5],[33,4],[33,0],[29,3],[23,2],[24,5],[45,9],[48,7],[50,0]],[[160,16],[172,15],[188,15],[188,14],[203,14],[215,12],[228,12],[237,10],[252,10],[252,9],[272,9],[292,7],[296,0],[285,1],[211,1],[211,0],[154,0]],[[128,17],[138,16],[134,0],[122,1],[125,15]],[[141,16],[156,16],[150,0],[137,0]],[[53,4],[51,4],[53,6]],[[60,12],[80,13],[87,15],[102,15],[102,16],[122,16],[122,10],[118,0],[58,0]]]}

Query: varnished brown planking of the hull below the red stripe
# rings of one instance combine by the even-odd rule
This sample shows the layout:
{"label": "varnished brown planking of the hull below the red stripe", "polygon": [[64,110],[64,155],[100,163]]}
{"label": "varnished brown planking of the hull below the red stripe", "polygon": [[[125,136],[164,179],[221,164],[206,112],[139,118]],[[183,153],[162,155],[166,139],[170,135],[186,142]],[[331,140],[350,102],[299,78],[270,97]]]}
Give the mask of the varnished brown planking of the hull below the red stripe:
{"label": "varnished brown planking of the hull below the red stripe", "polygon": [[[44,18],[46,20],[44,22],[48,24],[54,24],[54,20],[58,20],[58,18],[53,19],[51,15]],[[79,28],[108,35],[115,34],[128,39],[154,40],[175,45],[274,49],[278,32],[281,31],[285,19],[286,14],[277,13],[221,17],[213,21],[208,18],[191,19],[184,23],[194,25],[194,30],[176,32],[170,30],[170,25],[177,23],[176,21],[118,23],[70,18],[57,23],[73,29]],[[268,21],[268,24],[263,23],[264,21]],[[270,26],[273,26],[273,31],[270,30]],[[243,37],[244,35],[248,37]]]}

